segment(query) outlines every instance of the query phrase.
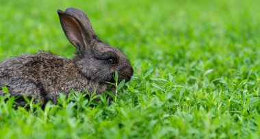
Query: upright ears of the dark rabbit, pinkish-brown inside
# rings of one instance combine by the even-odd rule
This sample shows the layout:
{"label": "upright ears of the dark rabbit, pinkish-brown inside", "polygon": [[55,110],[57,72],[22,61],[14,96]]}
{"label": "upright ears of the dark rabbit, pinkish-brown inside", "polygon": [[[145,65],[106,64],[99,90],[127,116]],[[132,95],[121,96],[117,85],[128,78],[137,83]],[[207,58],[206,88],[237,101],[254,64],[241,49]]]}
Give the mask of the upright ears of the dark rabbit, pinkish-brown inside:
{"label": "upright ears of the dark rabbit, pinkish-brown inside", "polygon": [[75,8],[68,8],[65,12],[57,10],[57,13],[70,43],[77,47],[79,55],[86,54],[92,48],[90,44],[95,36],[88,16]]}

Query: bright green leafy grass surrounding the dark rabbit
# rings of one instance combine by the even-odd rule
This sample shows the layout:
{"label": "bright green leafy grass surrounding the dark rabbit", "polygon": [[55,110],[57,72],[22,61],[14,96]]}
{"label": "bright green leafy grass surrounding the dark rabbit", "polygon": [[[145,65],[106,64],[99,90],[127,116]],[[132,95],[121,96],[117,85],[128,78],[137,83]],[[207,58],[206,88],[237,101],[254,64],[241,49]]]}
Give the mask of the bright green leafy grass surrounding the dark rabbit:
{"label": "bright green leafy grass surrounding the dark rabbit", "polygon": [[14,109],[13,97],[0,97],[0,138],[260,138],[259,5],[0,0],[0,60],[38,50],[73,57],[55,12],[73,6],[135,72],[111,105],[72,93],[44,110]]}

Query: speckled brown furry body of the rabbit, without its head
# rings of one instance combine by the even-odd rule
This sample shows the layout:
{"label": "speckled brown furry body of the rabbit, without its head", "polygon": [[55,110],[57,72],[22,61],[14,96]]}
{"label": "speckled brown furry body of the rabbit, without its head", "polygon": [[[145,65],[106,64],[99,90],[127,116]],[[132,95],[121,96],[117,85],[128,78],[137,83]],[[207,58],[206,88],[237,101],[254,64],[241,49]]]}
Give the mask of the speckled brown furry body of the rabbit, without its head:
{"label": "speckled brown furry body of the rabbit, without its head", "polygon": [[[56,103],[61,92],[70,90],[93,92],[107,90],[107,84],[88,79],[73,60],[52,53],[41,52],[36,55],[22,55],[10,58],[0,64],[0,86],[7,86],[12,95],[29,97],[37,101]],[[0,91],[0,93],[4,93]]]}

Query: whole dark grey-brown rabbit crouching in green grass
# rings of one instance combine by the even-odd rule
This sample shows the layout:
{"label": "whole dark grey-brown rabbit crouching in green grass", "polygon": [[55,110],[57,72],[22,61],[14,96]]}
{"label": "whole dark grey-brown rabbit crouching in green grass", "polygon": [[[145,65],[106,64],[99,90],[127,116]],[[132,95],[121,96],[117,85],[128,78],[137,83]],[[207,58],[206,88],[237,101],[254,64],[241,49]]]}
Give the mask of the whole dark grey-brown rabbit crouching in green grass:
{"label": "whole dark grey-brown rabbit crouching in green grass", "polygon": [[[126,56],[101,41],[94,33],[88,16],[76,8],[57,10],[68,41],[77,48],[74,58],[67,59],[51,52],[8,58],[0,63],[0,86],[6,86],[13,96],[32,97],[44,105],[57,103],[60,93],[94,91],[102,94],[107,82],[129,81],[133,68]],[[110,88],[114,91],[114,89]],[[0,94],[5,94],[0,89]],[[25,101],[19,101],[24,105]]]}

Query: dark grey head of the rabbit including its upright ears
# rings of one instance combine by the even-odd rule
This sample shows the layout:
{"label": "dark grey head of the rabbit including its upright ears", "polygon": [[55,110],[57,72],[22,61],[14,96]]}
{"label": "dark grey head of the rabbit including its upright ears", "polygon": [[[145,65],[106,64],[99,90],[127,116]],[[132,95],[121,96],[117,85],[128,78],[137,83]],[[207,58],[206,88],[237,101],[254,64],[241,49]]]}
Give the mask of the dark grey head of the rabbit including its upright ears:
{"label": "dark grey head of the rabbit including its upright ears", "polygon": [[96,36],[84,12],[68,8],[57,13],[66,38],[77,48],[73,62],[84,76],[99,83],[114,82],[114,73],[118,71],[118,81],[131,79],[133,68],[129,60]]}

